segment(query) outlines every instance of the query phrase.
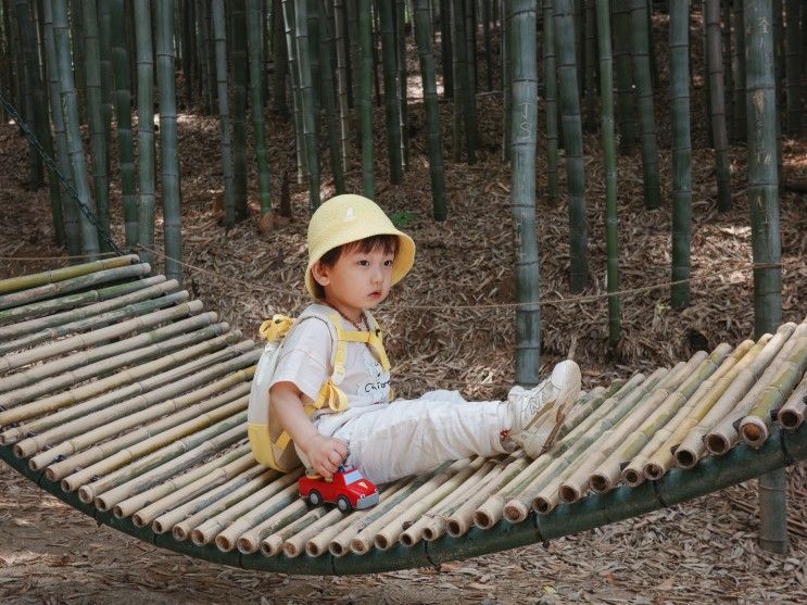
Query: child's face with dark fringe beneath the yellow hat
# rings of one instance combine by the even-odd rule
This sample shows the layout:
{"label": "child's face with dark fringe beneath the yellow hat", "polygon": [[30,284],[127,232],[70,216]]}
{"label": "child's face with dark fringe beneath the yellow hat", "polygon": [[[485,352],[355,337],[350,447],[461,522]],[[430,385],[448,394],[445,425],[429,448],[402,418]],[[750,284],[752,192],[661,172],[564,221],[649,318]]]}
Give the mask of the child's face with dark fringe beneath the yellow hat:
{"label": "child's face with dark fringe beneath the yellow hat", "polygon": [[325,302],[353,320],[390,293],[394,254],[377,247],[369,252],[348,248],[332,266],[316,263],[314,279],[325,290]]}

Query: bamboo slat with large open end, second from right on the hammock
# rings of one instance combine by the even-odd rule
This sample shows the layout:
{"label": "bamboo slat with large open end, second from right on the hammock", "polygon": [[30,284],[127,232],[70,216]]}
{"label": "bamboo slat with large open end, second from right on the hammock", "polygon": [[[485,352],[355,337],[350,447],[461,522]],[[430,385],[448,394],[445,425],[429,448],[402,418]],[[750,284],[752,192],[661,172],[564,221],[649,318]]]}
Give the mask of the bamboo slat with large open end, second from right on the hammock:
{"label": "bamboo slat with large open end, second from right on the hammock", "polygon": [[754,401],[748,415],[740,423],[739,432],[748,445],[759,449],[770,434],[771,414],[778,413],[807,369],[807,324],[794,343],[791,355],[783,360],[770,383]]}

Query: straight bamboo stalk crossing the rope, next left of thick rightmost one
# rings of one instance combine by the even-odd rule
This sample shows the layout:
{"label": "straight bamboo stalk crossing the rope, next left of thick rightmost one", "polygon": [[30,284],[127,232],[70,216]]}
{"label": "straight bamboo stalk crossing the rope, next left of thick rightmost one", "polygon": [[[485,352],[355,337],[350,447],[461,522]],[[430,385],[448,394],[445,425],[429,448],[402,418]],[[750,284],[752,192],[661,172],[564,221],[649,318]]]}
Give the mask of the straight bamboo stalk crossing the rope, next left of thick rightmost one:
{"label": "straight bamboo stalk crossing the rope, next left of thick rightmost one", "polygon": [[692,140],[690,131],[690,2],[670,2],[670,113],[672,129],[672,270],[670,303],[690,305]]}

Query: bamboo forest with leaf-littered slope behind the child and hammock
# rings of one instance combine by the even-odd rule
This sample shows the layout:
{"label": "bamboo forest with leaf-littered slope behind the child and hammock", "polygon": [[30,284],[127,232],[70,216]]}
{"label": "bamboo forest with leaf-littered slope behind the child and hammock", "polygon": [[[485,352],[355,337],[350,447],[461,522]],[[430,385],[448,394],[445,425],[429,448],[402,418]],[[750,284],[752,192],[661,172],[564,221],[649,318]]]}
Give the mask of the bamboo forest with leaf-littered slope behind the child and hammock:
{"label": "bamboo forest with leaf-littered slope behind the child and hammock", "polygon": [[50,203],[14,232],[256,327],[360,192],[419,247],[384,311],[404,395],[576,349],[625,376],[804,318],[806,29],[798,0],[0,0],[0,117]]}

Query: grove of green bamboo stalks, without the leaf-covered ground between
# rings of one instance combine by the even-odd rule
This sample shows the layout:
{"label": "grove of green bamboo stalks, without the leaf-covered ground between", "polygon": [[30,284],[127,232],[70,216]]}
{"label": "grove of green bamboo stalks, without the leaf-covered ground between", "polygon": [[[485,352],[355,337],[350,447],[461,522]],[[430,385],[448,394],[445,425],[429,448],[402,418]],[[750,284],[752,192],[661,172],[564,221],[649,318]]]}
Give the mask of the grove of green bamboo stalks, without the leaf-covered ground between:
{"label": "grove of green bamboo stalks, without the leaf-covered ground between", "polygon": [[[665,18],[669,34],[660,40],[653,24]],[[272,196],[273,182],[286,175],[269,165],[268,150],[277,144],[269,112],[293,123],[289,159],[311,209],[324,201],[324,180],[343,192],[351,171],[361,174],[369,198],[376,198],[379,166],[391,185],[406,179],[415,160],[415,102],[425,113],[436,220],[450,218],[446,163],[475,163],[501,144],[516,231],[516,380],[533,385],[541,345],[540,204],[563,200],[568,209],[571,292],[587,289],[598,270],[588,256],[583,143],[590,135],[598,135],[606,181],[611,345],[620,339],[617,154],[641,156],[646,210],[671,213],[669,295],[673,308],[683,308],[690,303],[695,129],[705,130],[714,148],[719,211],[737,193],[729,181],[730,146],[747,146],[753,259],[760,265],[756,336],[781,324],[779,134],[803,130],[805,29],[807,8],[798,0],[1,0],[0,93],[38,141],[30,144],[26,184],[49,187],[56,243],[71,255],[99,255],[121,216],[125,247],[150,262],[162,215],[165,273],[176,279],[179,108],[218,117],[226,229],[249,216],[250,169],[257,175],[261,215],[289,212]],[[668,66],[659,65],[659,45],[669,48]],[[693,70],[697,52],[702,73]],[[421,98],[408,93],[407,53],[417,58]],[[663,67],[669,73],[664,85]],[[708,108],[704,124],[691,117],[697,88]],[[501,98],[500,141],[482,140],[490,134],[478,128],[480,93]],[[658,103],[669,109],[670,199],[660,188]],[[441,122],[441,105],[450,124]],[[383,115],[381,136],[374,137],[374,112]],[[45,169],[39,146],[65,182]],[[117,171],[110,166],[112,146]],[[537,187],[539,156],[546,165],[543,189]],[[113,181],[112,174],[119,176]],[[119,209],[111,207],[112,190],[119,190]],[[74,197],[98,217],[98,229]]]}

